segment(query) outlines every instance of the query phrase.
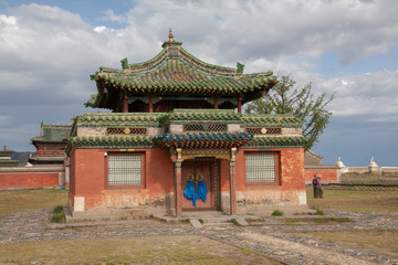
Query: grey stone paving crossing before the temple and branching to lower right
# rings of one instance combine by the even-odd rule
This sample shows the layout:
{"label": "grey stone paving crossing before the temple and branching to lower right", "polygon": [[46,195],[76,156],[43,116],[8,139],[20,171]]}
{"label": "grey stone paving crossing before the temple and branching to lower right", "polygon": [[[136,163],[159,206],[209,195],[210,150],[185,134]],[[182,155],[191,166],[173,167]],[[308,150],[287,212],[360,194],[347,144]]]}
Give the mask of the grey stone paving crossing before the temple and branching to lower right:
{"label": "grey stone paving crossing before the temple and branching to lower right", "polygon": [[[48,209],[14,212],[0,220],[1,244],[76,239],[201,235],[237,247],[250,248],[283,264],[397,264],[398,258],[343,247],[293,234],[303,231],[396,230],[398,212],[352,213],[326,211],[327,216],[354,222],[336,225],[285,225],[269,218],[256,226],[169,224],[156,220],[80,223],[75,226],[49,224]],[[297,216],[295,216],[297,218]]]}

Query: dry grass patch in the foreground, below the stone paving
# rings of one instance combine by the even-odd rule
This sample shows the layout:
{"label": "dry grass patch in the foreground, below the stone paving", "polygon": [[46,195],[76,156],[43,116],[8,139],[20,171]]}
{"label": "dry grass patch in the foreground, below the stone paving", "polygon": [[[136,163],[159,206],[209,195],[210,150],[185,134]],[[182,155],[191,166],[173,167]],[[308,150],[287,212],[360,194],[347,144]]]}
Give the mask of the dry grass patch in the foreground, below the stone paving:
{"label": "dry grass patch in the foreground, below the stone paving", "polygon": [[0,247],[0,263],[279,264],[250,250],[237,248],[199,235],[7,244]]}

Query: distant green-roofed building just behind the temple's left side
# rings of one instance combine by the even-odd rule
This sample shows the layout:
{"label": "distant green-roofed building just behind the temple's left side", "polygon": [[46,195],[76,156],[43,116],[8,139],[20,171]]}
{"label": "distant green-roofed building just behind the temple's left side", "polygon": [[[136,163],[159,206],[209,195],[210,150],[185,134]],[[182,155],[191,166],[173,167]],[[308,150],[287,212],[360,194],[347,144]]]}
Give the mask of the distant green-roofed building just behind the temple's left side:
{"label": "distant green-roofed building just behind the temple's left side", "polygon": [[40,136],[31,139],[36,148],[35,156],[28,161],[32,165],[63,165],[71,125],[40,125]]}

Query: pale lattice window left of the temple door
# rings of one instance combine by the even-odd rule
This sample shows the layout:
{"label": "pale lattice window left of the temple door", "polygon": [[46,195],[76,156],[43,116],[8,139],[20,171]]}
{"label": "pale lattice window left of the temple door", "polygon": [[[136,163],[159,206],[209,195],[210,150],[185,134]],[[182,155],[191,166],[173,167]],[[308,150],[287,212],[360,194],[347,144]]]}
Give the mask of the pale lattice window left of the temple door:
{"label": "pale lattice window left of the temple door", "polygon": [[142,155],[108,155],[108,186],[142,186]]}

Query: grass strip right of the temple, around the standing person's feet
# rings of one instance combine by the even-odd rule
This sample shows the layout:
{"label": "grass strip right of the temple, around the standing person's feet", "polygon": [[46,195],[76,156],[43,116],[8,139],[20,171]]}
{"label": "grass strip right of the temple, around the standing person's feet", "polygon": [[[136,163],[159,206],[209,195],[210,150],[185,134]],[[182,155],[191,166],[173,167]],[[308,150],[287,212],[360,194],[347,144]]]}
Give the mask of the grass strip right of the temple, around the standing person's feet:
{"label": "grass strip right of the temple, around the standing person's feet", "polygon": [[324,189],[324,199],[314,199],[306,190],[307,203],[313,209],[336,209],[354,212],[398,211],[398,193],[389,191],[355,191]]}

